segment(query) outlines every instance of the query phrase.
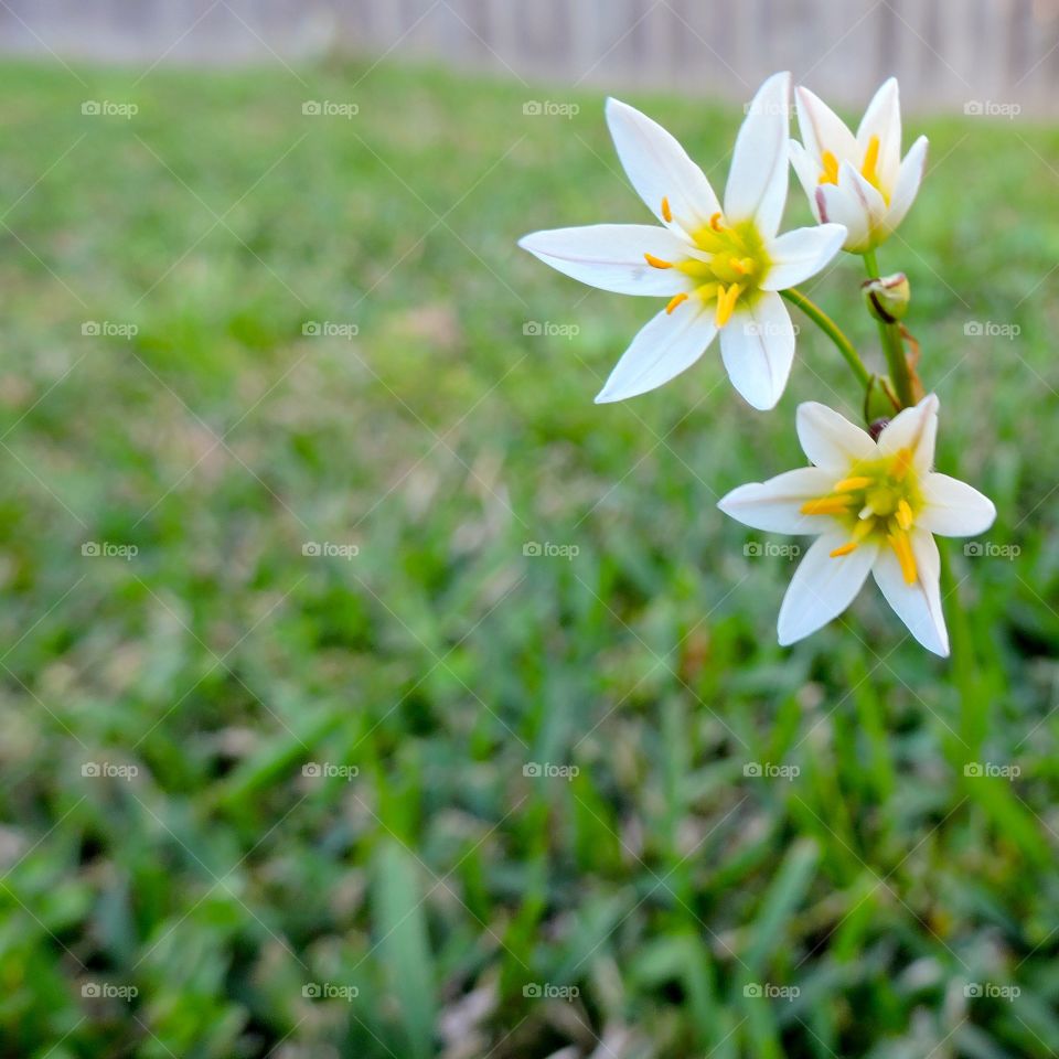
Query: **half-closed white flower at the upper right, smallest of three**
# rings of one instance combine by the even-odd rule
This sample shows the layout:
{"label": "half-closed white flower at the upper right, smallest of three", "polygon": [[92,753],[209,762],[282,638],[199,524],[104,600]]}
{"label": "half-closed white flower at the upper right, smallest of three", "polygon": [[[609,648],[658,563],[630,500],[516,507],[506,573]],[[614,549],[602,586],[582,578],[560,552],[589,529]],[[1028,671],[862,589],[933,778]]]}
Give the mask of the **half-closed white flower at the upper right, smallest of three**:
{"label": "half-closed white flower at the upper right, smallest of three", "polygon": [[905,220],[927,162],[926,136],[901,161],[897,81],[875,94],[856,136],[807,88],[795,89],[794,101],[803,143],[791,141],[791,161],[816,220],[846,226],[843,249],[874,249]]}

